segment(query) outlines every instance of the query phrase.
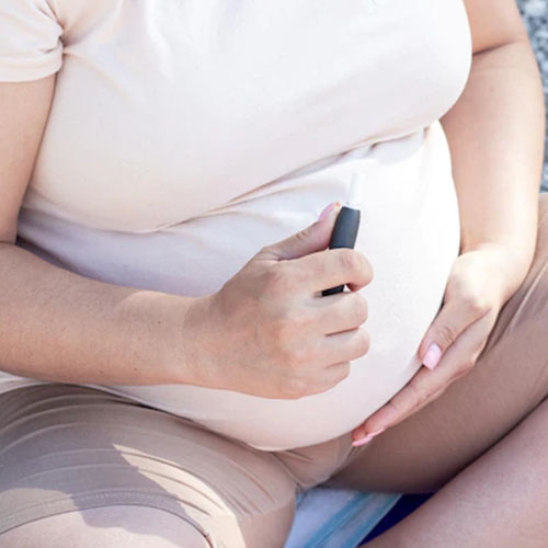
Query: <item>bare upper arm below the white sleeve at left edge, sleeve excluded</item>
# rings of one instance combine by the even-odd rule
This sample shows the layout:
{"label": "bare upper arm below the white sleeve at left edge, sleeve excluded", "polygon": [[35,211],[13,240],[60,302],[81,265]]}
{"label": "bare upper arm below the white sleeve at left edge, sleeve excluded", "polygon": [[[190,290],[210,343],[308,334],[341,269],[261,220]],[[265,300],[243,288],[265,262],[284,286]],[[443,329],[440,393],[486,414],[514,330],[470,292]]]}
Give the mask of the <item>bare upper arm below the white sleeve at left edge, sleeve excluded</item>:
{"label": "bare upper arm below the white sleeve at left edge, sleeve excluded", "polygon": [[0,82],[0,242],[14,243],[18,215],[52,104],[55,75]]}

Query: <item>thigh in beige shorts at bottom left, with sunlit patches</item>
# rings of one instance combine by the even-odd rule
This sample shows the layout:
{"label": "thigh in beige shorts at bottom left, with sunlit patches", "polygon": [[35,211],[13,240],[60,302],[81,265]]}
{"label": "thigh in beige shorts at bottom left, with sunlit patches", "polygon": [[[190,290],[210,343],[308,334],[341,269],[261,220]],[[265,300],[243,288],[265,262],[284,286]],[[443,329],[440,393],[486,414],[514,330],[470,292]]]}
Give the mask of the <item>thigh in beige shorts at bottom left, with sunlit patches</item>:
{"label": "thigh in beige shorts at bottom left, with sunlit patches", "polygon": [[[10,535],[45,546],[52,524],[68,538],[91,532],[101,538],[98,528],[109,525],[98,512],[104,517],[115,506],[125,511],[102,546],[119,546],[121,535],[148,535],[147,546],[191,546],[183,533],[190,530],[204,546],[284,545],[296,481],[267,452],[72,385],[12,390],[0,396],[0,546]],[[159,512],[170,514],[169,526],[155,517]]]}

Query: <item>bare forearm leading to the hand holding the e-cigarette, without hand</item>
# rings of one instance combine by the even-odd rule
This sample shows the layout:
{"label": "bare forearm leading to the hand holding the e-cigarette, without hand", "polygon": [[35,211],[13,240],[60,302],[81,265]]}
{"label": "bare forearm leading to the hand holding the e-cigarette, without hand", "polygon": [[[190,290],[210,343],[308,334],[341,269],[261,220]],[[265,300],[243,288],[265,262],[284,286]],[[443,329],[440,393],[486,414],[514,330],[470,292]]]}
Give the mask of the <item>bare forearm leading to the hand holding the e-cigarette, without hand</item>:
{"label": "bare forearm leading to the hand holding the e-cigarette, without hand", "polygon": [[194,384],[190,297],[105,284],[0,244],[0,369],[87,384]]}

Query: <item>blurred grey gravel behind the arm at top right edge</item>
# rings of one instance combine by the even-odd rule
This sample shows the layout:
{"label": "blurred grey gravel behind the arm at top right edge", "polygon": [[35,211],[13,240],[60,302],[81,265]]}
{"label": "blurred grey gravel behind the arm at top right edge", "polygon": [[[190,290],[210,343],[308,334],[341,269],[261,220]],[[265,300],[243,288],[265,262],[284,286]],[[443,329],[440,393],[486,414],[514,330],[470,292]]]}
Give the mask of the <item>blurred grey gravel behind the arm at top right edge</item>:
{"label": "blurred grey gravel behind the arm at top right edge", "polygon": [[[517,4],[537,55],[548,102],[548,0],[517,0]],[[548,191],[548,138],[545,144],[543,191]]]}

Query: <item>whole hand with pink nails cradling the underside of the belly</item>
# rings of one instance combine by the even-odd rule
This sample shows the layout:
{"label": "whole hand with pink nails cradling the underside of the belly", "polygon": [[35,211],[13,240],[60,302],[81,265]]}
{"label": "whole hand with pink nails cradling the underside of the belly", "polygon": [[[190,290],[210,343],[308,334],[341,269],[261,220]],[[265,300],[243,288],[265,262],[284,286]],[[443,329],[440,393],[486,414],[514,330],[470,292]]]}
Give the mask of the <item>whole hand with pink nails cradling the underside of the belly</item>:
{"label": "whole hand with pink nails cradling the underside of the belly", "polygon": [[419,357],[426,367],[421,367],[388,403],[352,431],[353,442],[367,443],[438,398],[470,372],[501,308],[527,271],[523,261],[501,244],[486,243],[461,253],[452,267],[443,305],[419,346]]}

